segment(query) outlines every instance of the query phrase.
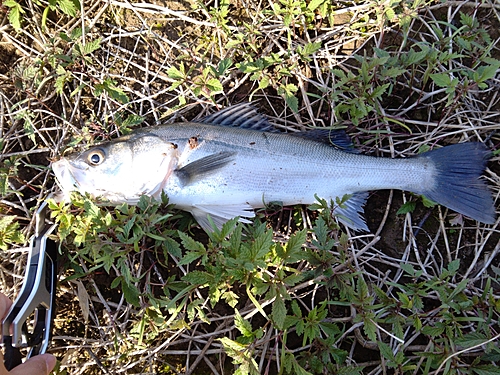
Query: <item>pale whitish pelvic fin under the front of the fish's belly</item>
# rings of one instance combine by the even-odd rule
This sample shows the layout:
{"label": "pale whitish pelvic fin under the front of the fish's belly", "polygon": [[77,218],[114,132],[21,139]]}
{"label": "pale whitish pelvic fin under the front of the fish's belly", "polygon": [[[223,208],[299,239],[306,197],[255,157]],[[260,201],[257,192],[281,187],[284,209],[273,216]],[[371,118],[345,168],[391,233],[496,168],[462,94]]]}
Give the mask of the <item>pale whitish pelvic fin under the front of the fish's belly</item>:
{"label": "pale whitish pelvic fin under the front of the fish's belly", "polygon": [[208,216],[219,229],[222,228],[225,222],[237,216],[240,217],[239,221],[242,223],[250,223],[250,220],[246,218],[255,216],[253,208],[247,204],[229,206],[196,205],[189,211],[206,232],[213,231]]}

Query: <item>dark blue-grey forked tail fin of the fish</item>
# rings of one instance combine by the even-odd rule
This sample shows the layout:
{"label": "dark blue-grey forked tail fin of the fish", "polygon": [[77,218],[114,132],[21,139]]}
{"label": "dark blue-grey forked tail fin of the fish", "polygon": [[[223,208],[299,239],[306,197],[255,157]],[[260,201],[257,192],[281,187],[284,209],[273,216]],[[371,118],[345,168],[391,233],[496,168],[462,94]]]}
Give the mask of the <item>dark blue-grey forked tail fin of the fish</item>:
{"label": "dark blue-grey forked tail fin of the fish", "polygon": [[485,224],[495,222],[495,205],[486,183],[479,179],[491,151],[477,142],[459,143],[419,156],[436,167],[436,183],[422,194]]}

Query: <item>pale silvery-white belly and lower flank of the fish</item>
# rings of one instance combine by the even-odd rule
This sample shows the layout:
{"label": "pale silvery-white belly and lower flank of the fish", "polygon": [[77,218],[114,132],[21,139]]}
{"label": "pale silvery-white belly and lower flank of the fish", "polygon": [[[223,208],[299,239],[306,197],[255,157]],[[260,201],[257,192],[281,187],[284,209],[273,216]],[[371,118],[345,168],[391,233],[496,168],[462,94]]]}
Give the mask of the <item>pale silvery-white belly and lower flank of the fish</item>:
{"label": "pale silvery-white belly and lower flank of the fish", "polygon": [[[238,157],[213,175],[182,186],[172,179],[166,186],[171,203],[192,205],[246,204],[253,208],[270,202],[311,204],[315,194],[334,199],[344,194],[401,189],[424,191],[433,182],[432,166],[422,159],[380,159],[336,152],[338,160],[305,161],[292,155]],[[248,155],[247,155],[248,156]]]}

